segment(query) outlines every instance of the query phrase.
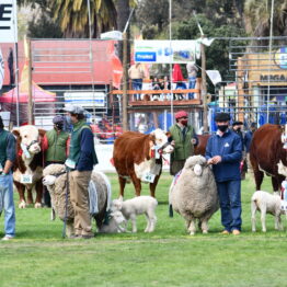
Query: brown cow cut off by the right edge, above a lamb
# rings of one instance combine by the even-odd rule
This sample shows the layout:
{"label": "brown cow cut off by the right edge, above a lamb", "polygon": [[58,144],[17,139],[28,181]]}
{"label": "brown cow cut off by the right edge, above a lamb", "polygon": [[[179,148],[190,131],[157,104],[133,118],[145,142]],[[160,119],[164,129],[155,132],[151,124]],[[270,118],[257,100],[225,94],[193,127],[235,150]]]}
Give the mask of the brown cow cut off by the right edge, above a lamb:
{"label": "brown cow cut off by the right edge, above a lamb", "polygon": [[284,133],[280,126],[266,124],[253,135],[250,146],[250,162],[254,171],[256,191],[261,190],[264,172],[272,176],[274,192],[278,192],[285,176],[278,174],[278,163],[287,167],[284,149]]}

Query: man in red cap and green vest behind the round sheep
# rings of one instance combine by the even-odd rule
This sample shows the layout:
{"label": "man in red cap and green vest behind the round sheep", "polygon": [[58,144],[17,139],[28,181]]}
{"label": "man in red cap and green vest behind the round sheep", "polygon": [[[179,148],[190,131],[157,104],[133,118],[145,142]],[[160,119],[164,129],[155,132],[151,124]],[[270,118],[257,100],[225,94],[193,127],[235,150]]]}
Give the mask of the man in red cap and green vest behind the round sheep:
{"label": "man in red cap and green vest behind the round sheep", "polygon": [[194,146],[198,144],[194,128],[188,125],[188,114],[185,111],[175,114],[175,122],[170,127],[169,138],[169,141],[174,145],[174,151],[171,153],[171,175],[175,175],[183,169],[186,159],[194,154]]}

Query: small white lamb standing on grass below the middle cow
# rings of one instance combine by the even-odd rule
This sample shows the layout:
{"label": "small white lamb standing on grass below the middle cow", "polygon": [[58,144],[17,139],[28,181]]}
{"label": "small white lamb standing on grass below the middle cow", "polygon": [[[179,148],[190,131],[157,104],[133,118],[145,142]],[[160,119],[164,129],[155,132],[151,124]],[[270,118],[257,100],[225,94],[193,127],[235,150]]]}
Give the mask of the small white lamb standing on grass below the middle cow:
{"label": "small white lamb standing on grass below the middle cow", "polygon": [[[123,202],[122,199],[114,199],[112,203],[112,210],[119,210],[123,213],[126,220],[131,221],[133,232],[137,232],[136,217],[145,214],[147,217],[147,227],[145,232],[153,232],[157,223],[156,208],[158,200],[151,196],[137,196],[131,199]],[[125,227],[127,226],[127,222]]]}

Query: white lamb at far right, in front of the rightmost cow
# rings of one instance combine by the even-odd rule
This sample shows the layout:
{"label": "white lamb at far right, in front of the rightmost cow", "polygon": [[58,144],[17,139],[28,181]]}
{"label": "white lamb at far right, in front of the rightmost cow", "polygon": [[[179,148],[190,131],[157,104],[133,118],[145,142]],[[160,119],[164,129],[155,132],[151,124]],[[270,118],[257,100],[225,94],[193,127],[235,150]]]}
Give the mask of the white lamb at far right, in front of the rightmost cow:
{"label": "white lamb at far right, in front of the rightmost cow", "polygon": [[269,194],[263,191],[256,191],[251,197],[251,221],[252,231],[256,231],[256,210],[261,213],[262,231],[266,232],[265,218],[266,214],[275,216],[275,229],[283,230],[280,215],[284,214],[282,210],[282,198],[278,194]]}

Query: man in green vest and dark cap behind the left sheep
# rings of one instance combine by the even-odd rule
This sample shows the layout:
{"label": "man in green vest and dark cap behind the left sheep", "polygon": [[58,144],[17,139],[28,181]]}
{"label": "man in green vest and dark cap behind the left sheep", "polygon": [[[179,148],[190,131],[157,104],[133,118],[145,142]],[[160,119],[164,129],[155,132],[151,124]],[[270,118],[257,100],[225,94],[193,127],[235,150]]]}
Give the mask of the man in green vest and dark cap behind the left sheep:
{"label": "man in green vest and dark cap behind the left sheep", "polygon": [[[69,147],[69,134],[64,131],[64,122],[65,118],[60,115],[53,118],[54,128],[48,130],[43,140],[43,150],[45,153],[45,167],[51,163],[61,163],[64,164]],[[50,207],[50,196],[47,188],[44,193],[44,203],[45,206]]]}

